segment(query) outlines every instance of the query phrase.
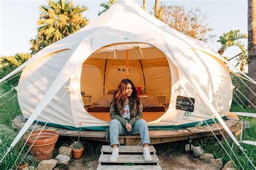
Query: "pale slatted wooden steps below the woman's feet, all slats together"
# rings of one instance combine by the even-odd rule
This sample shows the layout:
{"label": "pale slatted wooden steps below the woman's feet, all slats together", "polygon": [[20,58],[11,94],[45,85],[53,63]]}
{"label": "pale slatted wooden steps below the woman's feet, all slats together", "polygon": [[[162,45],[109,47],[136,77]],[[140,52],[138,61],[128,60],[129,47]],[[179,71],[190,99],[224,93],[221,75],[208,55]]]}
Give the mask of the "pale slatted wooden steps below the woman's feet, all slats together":
{"label": "pale slatted wooden steps below the woman's feet, all slats together", "polygon": [[110,162],[112,153],[110,146],[102,146],[100,151],[99,165],[97,169],[161,169],[156,150],[150,146],[152,161],[145,161],[142,146],[120,146],[119,157],[116,162]]}

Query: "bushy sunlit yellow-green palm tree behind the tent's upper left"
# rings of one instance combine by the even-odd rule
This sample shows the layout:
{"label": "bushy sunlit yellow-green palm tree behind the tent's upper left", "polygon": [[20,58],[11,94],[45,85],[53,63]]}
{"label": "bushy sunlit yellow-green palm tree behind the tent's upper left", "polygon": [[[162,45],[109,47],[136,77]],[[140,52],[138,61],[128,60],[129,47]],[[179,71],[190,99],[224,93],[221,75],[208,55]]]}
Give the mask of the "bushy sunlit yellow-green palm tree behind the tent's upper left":
{"label": "bushy sunlit yellow-green palm tree behind the tent's upper left", "polygon": [[49,0],[48,5],[41,5],[39,10],[37,36],[30,40],[32,53],[69,36],[89,22],[82,16],[87,7],[75,6],[69,0]]}

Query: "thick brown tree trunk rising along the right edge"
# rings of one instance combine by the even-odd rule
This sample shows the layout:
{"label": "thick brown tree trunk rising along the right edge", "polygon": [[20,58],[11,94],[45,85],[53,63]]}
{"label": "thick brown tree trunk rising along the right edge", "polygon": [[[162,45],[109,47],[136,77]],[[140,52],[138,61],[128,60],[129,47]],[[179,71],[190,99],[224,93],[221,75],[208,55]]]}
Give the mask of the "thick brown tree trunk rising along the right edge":
{"label": "thick brown tree trunk rising along the right edge", "polygon": [[[256,81],[256,1],[248,0],[248,75]],[[256,85],[249,83],[249,87],[256,92]],[[256,105],[256,96],[248,90],[249,100]],[[248,102],[248,107],[252,105]]]}

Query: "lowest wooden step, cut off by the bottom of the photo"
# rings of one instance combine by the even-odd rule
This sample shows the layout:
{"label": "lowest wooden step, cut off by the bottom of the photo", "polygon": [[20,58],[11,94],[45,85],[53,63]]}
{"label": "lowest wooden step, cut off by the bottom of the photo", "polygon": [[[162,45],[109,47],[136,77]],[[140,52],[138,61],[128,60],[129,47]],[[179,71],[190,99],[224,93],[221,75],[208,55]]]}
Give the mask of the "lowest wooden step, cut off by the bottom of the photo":
{"label": "lowest wooden step, cut off by the bottom of the photo", "polygon": [[161,170],[162,168],[160,165],[99,165],[97,170],[113,170],[113,169],[120,169],[120,170]]}

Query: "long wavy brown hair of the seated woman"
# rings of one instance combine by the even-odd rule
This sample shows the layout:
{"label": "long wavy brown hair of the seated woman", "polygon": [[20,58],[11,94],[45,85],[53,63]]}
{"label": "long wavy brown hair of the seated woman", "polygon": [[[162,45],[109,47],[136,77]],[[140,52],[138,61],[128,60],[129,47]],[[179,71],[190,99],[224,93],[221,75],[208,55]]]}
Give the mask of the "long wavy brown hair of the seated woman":
{"label": "long wavy brown hair of the seated woman", "polygon": [[[121,105],[124,104],[125,102],[125,98],[127,98],[127,94],[126,94],[126,87],[128,84],[131,84],[132,86],[132,94],[129,98],[132,98],[133,100],[136,101],[137,103],[137,109],[139,110],[139,105],[140,105],[140,98],[139,95],[137,93],[137,89],[135,88],[133,82],[130,79],[123,79],[117,87],[117,92],[116,94],[114,94],[113,100],[115,101],[115,103],[120,103]],[[133,115],[134,116],[134,115]]]}

